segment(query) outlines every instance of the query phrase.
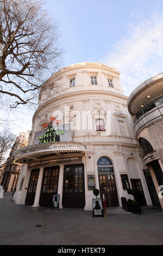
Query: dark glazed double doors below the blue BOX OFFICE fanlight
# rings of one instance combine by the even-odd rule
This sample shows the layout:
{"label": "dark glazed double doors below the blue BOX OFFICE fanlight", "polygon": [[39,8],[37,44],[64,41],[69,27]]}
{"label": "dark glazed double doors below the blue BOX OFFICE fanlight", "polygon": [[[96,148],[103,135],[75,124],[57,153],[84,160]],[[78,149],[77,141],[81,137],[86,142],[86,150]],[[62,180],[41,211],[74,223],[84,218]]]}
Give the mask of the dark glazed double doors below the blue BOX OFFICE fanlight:
{"label": "dark glazed double doors below the blue BOX OFFICE fanlight", "polygon": [[99,189],[101,198],[106,199],[106,207],[119,206],[114,174],[99,174]]}

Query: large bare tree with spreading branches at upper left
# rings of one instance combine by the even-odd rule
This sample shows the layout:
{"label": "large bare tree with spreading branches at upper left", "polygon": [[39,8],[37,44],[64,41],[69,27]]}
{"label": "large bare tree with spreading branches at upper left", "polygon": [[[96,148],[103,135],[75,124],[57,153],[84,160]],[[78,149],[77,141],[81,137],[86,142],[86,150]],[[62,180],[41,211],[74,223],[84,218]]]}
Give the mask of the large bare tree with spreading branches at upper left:
{"label": "large bare tree with spreading branches at upper left", "polygon": [[37,103],[40,88],[61,63],[58,38],[57,22],[42,9],[39,0],[0,1],[2,104],[16,108]]}

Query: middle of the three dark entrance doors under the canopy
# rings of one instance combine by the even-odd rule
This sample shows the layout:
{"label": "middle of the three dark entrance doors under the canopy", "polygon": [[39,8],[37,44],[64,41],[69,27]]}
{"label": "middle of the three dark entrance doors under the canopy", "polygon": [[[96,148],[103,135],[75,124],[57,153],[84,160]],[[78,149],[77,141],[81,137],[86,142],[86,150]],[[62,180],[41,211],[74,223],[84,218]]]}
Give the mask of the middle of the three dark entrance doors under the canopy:
{"label": "middle of the three dark entrance doors under the canopy", "polygon": [[59,166],[46,167],[43,170],[40,193],[40,206],[53,206],[53,195],[58,191]]}

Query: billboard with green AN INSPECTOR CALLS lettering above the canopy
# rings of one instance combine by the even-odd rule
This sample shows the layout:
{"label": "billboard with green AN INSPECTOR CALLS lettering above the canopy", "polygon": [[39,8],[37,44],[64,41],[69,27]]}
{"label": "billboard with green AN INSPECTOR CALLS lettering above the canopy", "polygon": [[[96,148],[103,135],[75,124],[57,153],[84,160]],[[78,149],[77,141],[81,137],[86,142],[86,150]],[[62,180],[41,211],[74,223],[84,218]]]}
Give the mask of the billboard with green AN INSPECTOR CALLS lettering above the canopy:
{"label": "billboard with green AN INSPECTOR CALLS lettering above the canopy", "polygon": [[55,126],[54,123],[49,123],[48,127],[35,133],[33,145],[45,144],[57,141],[70,141],[71,130],[70,123],[60,124]]}

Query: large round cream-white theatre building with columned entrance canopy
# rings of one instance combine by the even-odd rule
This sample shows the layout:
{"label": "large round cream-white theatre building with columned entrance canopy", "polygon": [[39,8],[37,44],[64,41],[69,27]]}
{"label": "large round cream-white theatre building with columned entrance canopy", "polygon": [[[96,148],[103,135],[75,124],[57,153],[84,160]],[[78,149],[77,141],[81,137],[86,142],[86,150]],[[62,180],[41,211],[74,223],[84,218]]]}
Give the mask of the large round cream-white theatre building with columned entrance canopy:
{"label": "large round cream-white theatre building with columned entrance canopy", "polygon": [[29,146],[14,152],[22,164],[16,204],[92,210],[93,189],[107,206],[136,192],[141,205],[152,205],[120,73],[102,63],[82,62],[55,73],[39,94]]}

